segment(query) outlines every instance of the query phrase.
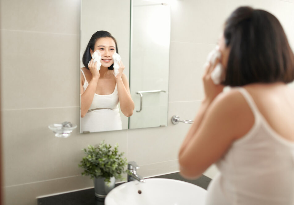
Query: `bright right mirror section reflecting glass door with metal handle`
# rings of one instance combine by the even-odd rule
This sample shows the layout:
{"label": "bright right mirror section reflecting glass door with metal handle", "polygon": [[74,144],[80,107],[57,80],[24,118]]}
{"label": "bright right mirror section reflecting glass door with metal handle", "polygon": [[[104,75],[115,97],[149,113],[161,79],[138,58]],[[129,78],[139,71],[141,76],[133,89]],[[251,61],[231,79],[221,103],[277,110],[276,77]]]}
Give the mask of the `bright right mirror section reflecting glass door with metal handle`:
{"label": "bright right mirror section reflecting glass door with metal handle", "polygon": [[[170,6],[133,0],[131,12],[130,91],[135,110],[130,117],[129,128],[166,126]],[[164,92],[142,93],[140,106],[141,98],[137,92],[154,90]]]}

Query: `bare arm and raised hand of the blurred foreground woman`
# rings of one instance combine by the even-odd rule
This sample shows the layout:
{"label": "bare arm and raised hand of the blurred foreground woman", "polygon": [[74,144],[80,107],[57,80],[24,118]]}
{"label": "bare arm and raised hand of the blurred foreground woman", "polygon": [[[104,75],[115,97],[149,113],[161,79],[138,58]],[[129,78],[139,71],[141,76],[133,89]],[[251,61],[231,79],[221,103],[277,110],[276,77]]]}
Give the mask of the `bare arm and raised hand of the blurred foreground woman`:
{"label": "bare arm and raised hand of the blurred foreground woman", "polygon": [[253,113],[244,97],[237,90],[221,93],[221,85],[214,85],[210,78],[212,70],[211,65],[206,68],[203,77],[205,100],[179,152],[180,174],[187,178],[200,176],[254,123]]}

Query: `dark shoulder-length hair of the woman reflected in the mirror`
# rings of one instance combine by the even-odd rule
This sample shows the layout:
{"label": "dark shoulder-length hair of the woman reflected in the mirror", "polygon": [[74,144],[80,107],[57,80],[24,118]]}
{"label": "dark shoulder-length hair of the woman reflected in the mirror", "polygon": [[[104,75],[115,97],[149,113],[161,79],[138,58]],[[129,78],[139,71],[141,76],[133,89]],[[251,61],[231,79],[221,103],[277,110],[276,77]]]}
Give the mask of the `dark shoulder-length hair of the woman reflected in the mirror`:
{"label": "dark shoulder-length hair of the woman reflected in the mirror", "polygon": [[[88,63],[92,59],[90,49],[92,49],[94,51],[94,46],[95,46],[96,41],[102,37],[112,38],[115,43],[116,53],[118,53],[118,44],[117,44],[115,38],[108,31],[97,31],[95,34],[92,35],[92,37],[91,37],[91,39],[85,49],[83,58],[82,58],[83,64],[85,65],[86,69],[88,69],[88,70],[89,70]],[[108,69],[113,70],[113,64]]]}

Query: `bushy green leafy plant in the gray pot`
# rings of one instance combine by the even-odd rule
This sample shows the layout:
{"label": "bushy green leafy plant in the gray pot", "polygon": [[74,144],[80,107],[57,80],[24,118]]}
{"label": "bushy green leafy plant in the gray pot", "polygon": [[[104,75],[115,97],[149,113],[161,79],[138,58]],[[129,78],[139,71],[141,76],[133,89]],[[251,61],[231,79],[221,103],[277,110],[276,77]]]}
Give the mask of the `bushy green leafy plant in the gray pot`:
{"label": "bushy green leafy plant in the gray pot", "polygon": [[82,149],[85,155],[79,164],[84,168],[83,176],[90,175],[92,178],[105,177],[105,182],[110,183],[110,177],[123,180],[122,174],[127,173],[126,158],[122,158],[124,152],[118,153],[118,144],[111,149],[111,145],[104,143],[104,140],[97,146],[88,145],[88,149]]}

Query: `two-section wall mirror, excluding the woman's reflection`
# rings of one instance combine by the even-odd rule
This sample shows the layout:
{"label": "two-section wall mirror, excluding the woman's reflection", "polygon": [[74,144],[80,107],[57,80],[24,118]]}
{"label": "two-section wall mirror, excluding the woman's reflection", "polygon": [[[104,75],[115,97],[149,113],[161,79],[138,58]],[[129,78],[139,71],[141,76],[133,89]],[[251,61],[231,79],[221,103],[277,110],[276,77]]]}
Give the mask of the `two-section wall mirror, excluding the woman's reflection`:
{"label": "two-section wall mirror, excluding the woman's reflection", "polygon": [[[108,31],[117,41],[118,53],[125,67],[123,73],[135,104],[133,114],[127,117],[118,103],[122,129],[166,126],[170,7],[164,3],[143,0],[81,0],[80,25],[80,68],[85,67],[82,57],[95,32]],[[82,73],[81,79],[84,79]],[[84,119],[80,117],[80,133],[118,130],[111,126],[101,130],[95,123],[85,129]],[[101,120],[110,125],[113,121],[108,116]]]}

